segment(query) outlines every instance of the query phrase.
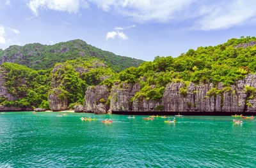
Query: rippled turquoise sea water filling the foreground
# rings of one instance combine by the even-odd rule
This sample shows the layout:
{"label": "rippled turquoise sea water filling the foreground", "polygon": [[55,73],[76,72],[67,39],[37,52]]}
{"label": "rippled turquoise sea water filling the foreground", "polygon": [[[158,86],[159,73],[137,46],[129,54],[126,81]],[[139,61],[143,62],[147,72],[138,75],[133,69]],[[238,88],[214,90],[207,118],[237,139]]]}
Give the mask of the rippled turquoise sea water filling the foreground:
{"label": "rippled turquoise sea water filling the foreground", "polygon": [[[256,119],[234,125],[231,116],[184,116],[174,124],[145,116],[57,114],[0,114],[0,167],[256,166]],[[113,123],[101,123],[105,118]]]}

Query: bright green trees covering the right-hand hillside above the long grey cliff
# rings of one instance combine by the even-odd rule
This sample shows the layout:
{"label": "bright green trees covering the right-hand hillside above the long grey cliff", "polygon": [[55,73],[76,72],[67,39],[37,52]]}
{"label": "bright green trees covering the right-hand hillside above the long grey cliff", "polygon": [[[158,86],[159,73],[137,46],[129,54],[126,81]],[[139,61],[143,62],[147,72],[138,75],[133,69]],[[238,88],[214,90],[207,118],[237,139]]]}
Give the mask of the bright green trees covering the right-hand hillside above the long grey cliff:
{"label": "bright green trees covering the right-hand hillside above the long grey cliff", "polygon": [[138,98],[157,101],[163,97],[164,88],[170,82],[183,82],[186,86],[180,89],[180,94],[184,96],[190,82],[232,85],[246,74],[256,73],[256,45],[235,47],[250,41],[256,41],[256,38],[241,37],[218,46],[198,47],[177,58],[157,56],[152,62],[125,69],[103,84],[111,86],[114,81],[139,82],[141,90],[131,101]]}

